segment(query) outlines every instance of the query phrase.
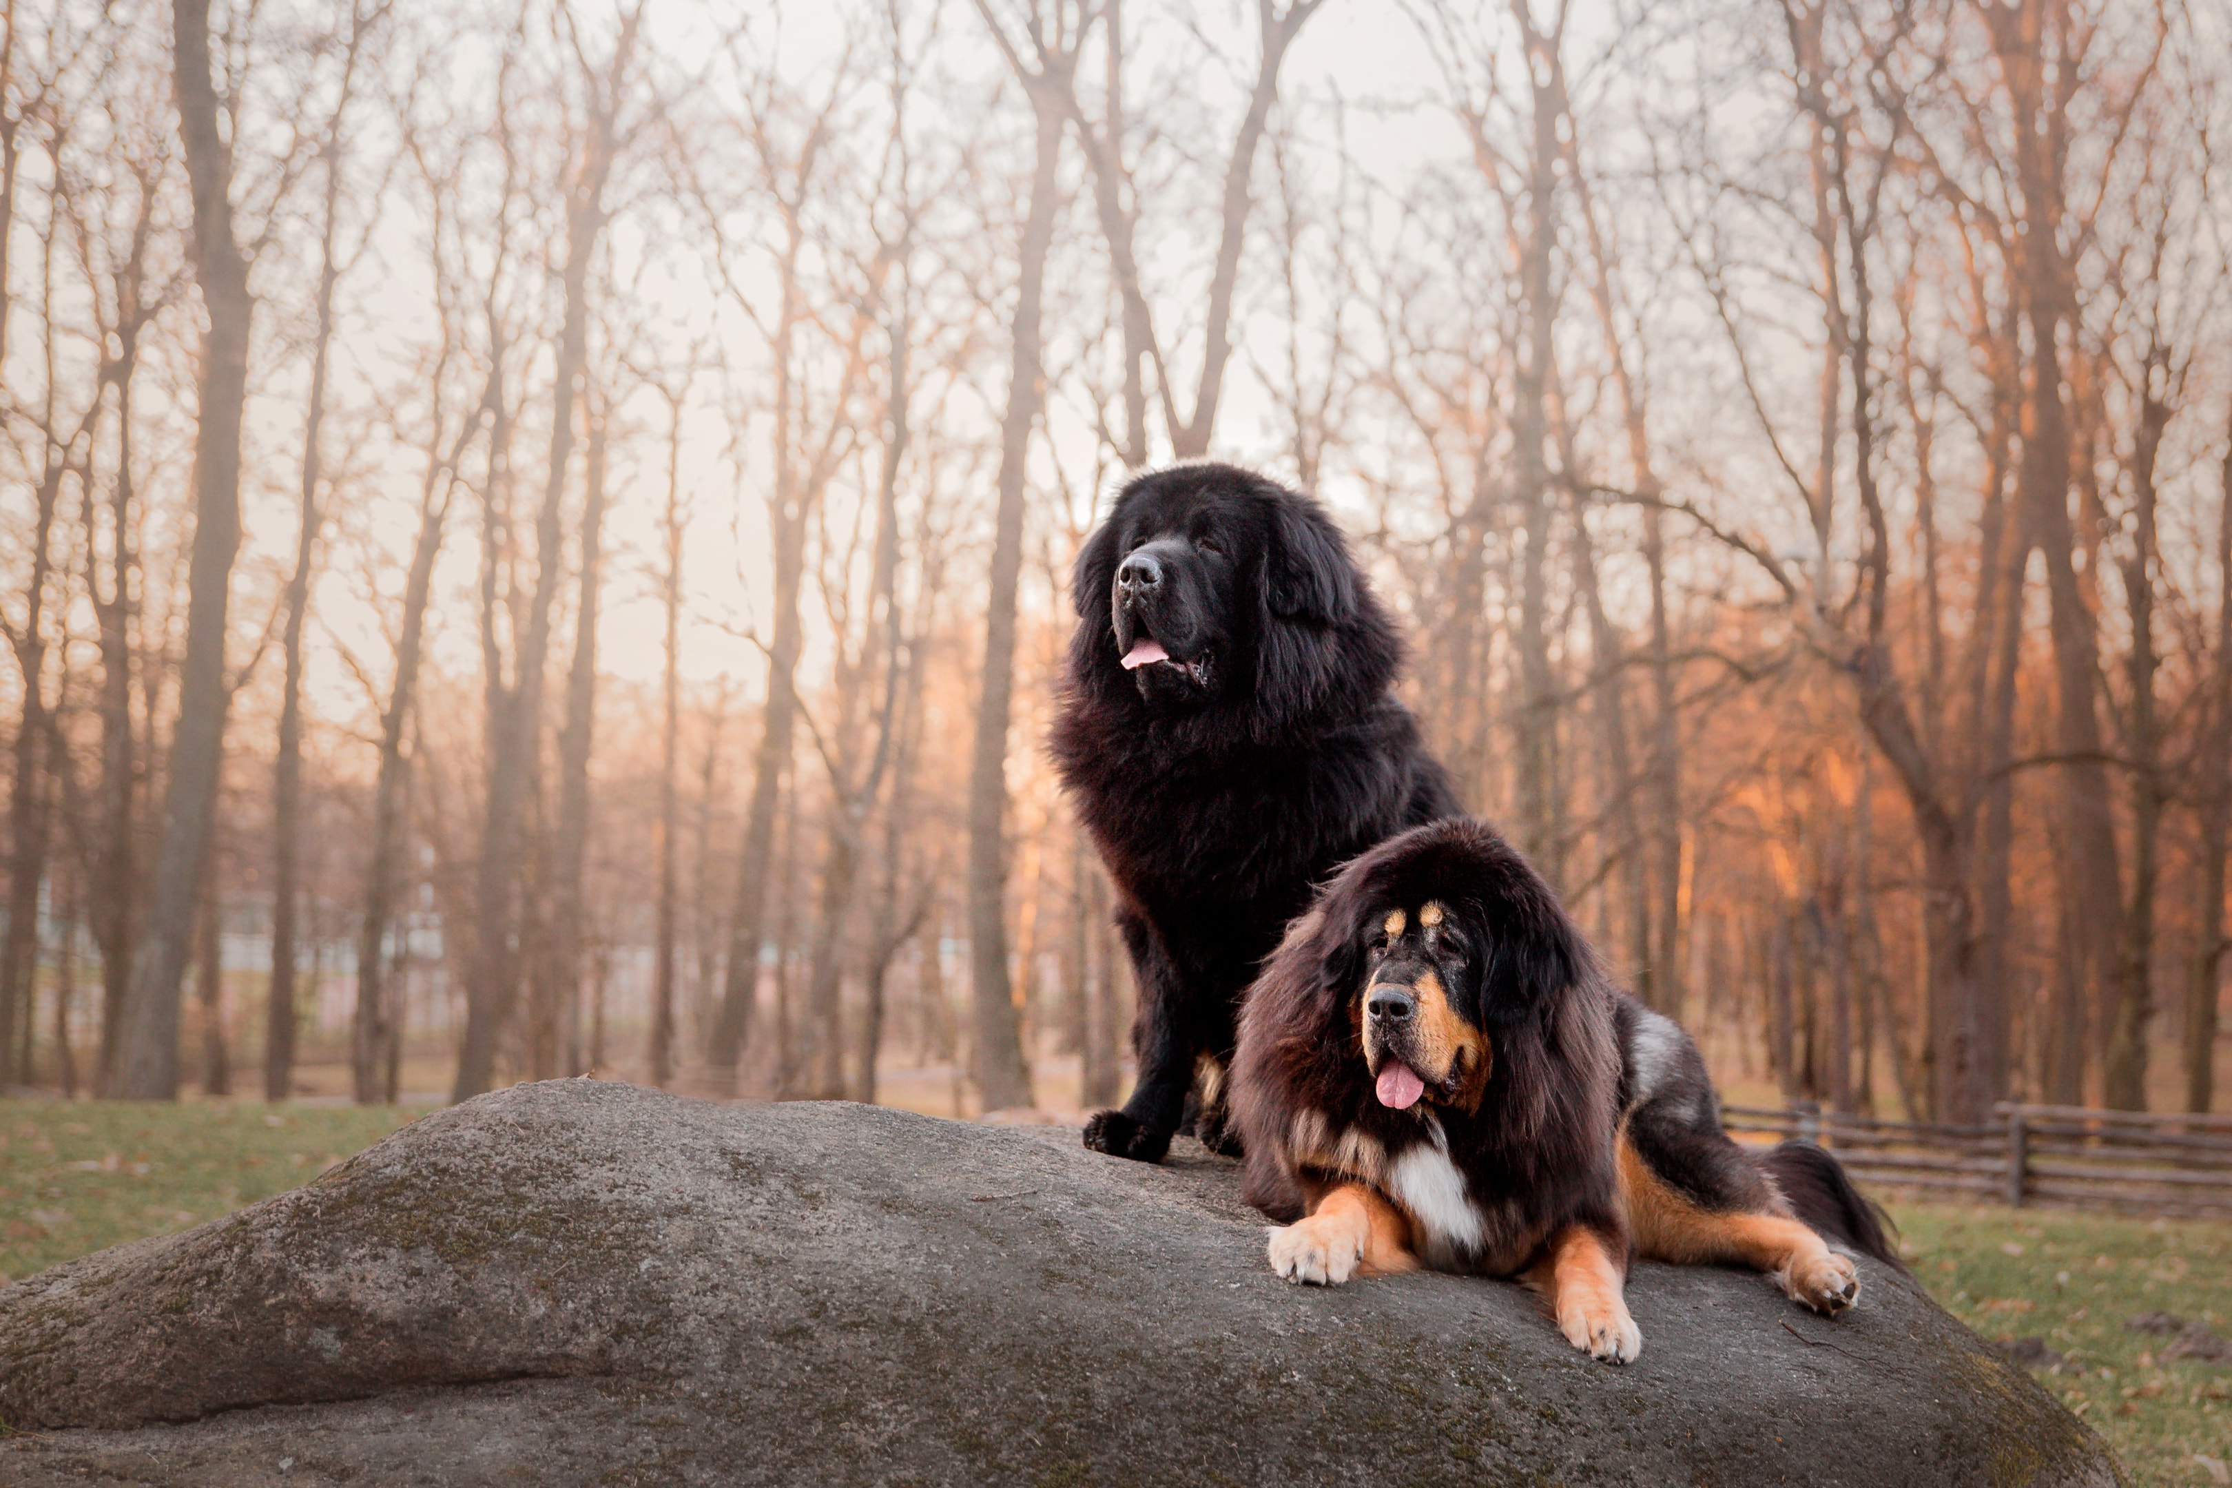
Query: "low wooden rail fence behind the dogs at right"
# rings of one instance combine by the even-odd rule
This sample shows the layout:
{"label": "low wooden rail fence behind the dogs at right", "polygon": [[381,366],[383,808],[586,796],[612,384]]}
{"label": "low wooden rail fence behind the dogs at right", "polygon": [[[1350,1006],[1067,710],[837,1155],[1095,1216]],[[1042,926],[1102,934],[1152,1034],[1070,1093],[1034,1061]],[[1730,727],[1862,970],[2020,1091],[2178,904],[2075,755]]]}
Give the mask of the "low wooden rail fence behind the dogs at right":
{"label": "low wooden rail fence behind the dogs at right", "polygon": [[2232,1220],[2232,1115],[2000,1104],[1989,1124],[1946,1127],[1799,1104],[1721,1118],[1739,1138],[1821,1142],[1875,1189]]}

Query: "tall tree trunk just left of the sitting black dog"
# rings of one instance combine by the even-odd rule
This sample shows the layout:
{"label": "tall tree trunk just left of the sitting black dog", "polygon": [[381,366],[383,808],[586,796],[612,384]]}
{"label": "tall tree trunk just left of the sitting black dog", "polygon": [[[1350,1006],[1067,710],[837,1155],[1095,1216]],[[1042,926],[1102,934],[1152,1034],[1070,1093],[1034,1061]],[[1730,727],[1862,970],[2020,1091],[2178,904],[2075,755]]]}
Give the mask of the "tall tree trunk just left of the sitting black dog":
{"label": "tall tree trunk just left of the sitting black dog", "polygon": [[1040,310],[1054,210],[1060,194],[1062,116],[1045,85],[1031,89],[1038,163],[1018,254],[1011,323],[1013,361],[1000,424],[1000,504],[993,518],[991,607],[984,618],[984,669],[975,750],[969,759],[969,966],[975,993],[973,1078],[987,1111],[1031,1104],[1016,993],[1007,968],[1007,723],[1016,687],[1016,589],[1022,578],[1022,497],[1031,428],[1045,404]]}

